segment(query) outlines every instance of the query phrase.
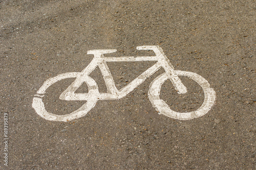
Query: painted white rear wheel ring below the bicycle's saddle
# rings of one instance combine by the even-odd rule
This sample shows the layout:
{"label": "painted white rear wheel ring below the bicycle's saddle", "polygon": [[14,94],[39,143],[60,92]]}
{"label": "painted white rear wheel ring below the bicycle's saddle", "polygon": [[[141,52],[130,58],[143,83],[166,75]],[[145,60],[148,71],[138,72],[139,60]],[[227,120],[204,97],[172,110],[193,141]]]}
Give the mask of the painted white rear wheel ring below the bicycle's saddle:
{"label": "painted white rear wheel ring below the bicycle's saddle", "polygon": [[86,84],[89,87],[88,100],[79,109],[73,111],[72,113],[65,114],[65,115],[57,115],[57,114],[50,113],[45,109],[44,102],[42,102],[42,98],[44,98],[45,91],[52,84],[63,79],[77,78],[79,76],[82,76],[81,72],[67,72],[67,73],[60,74],[56,77],[48,79],[40,87],[40,89],[37,91],[37,94],[35,94],[35,97],[33,98],[32,107],[35,109],[36,113],[42,118],[45,118],[47,120],[62,121],[62,122],[67,122],[67,121],[86,115],[95,106],[96,102],[98,101],[98,94],[99,94],[98,86],[96,82],[89,76],[83,78],[83,81],[86,82]]}

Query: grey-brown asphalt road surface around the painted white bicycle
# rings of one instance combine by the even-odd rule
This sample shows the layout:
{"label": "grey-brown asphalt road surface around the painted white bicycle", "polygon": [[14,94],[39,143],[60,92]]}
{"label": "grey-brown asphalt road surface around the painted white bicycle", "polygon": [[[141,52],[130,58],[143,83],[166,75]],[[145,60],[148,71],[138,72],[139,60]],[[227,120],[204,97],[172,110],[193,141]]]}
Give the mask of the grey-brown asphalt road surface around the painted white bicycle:
{"label": "grey-brown asphalt road surface around the painted white bicycle", "polygon": [[[254,0],[1,1],[0,169],[255,169],[255,16]],[[155,55],[136,49],[143,45],[159,45],[175,70],[207,80],[214,106],[188,120],[158,114],[148,90],[161,68],[123,98],[98,100],[68,122],[42,118],[32,107],[46,80],[86,68],[89,50]],[[108,67],[121,89],[155,63]],[[77,77],[56,81],[37,99],[49,113],[76,111],[87,101],[59,96]],[[90,77],[99,92],[108,91],[99,67]],[[176,112],[197,110],[202,87],[179,78],[187,93],[166,80],[160,99]],[[88,93],[93,86],[86,83],[76,93]]]}

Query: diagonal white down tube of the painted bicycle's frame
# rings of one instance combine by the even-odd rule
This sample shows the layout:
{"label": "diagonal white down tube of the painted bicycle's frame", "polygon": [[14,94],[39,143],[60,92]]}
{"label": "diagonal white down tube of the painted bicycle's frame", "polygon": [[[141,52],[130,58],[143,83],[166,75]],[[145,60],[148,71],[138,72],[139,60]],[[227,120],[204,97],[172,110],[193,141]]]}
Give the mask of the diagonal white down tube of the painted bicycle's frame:
{"label": "diagonal white down tube of the painted bicycle's frame", "polygon": [[148,77],[152,76],[157,70],[161,68],[161,63],[157,62],[152,67],[145,70],[140,76],[134,79],[127,86],[120,89],[119,98],[123,98],[125,95],[133,91],[136,87],[138,87],[141,83],[143,83]]}

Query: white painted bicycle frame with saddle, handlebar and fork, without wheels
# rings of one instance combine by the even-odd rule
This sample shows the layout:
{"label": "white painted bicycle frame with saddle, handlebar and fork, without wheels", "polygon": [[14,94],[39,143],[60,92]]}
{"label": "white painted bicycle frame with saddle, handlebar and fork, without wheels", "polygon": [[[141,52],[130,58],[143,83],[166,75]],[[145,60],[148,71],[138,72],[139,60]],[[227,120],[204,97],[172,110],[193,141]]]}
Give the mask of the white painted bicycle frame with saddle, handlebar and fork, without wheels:
{"label": "white painted bicycle frame with saddle, handlebar and fork, without wheels", "polygon": [[[178,93],[186,93],[186,87],[182,84],[181,80],[177,76],[173,65],[169,62],[168,58],[164,55],[164,52],[159,46],[138,46],[137,50],[153,50],[156,56],[140,56],[140,57],[104,57],[103,54],[114,53],[116,50],[90,50],[87,54],[93,54],[94,58],[90,64],[84,68],[82,76],[77,78],[61,95],[60,99],[68,101],[84,101],[91,98],[91,95],[85,93],[74,93],[80,85],[84,82],[83,77],[88,77],[91,72],[99,66],[101,74],[103,76],[107,93],[99,93],[98,100],[116,100],[121,99],[128,93],[137,88],[141,83],[143,83],[148,77],[152,76],[161,67],[164,68],[167,75],[169,75],[169,80],[175,86]],[[157,61],[153,66],[144,71],[140,76],[135,78],[132,82],[127,84],[125,87],[118,90],[115,86],[114,79],[110,72],[110,69],[106,62],[129,62],[129,61]],[[89,87],[90,88],[90,87]],[[94,93],[96,93],[94,91]]]}

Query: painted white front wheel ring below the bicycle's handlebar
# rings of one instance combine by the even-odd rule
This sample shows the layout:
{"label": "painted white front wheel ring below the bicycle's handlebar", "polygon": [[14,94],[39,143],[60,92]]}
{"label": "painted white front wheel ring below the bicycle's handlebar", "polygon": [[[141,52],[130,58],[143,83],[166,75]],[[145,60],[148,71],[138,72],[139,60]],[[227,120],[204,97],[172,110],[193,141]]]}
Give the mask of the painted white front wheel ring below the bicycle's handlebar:
{"label": "painted white front wheel ring below the bicycle's handlebar", "polygon": [[161,86],[165,80],[168,79],[167,74],[164,72],[162,75],[158,76],[150,85],[148,90],[148,98],[150,99],[152,105],[156,107],[159,114],[163,114],[167,117],[188,120],[201,117],[205,115],[215,103],[216,94],[213,88],[210,88],[210,84],[202,76],[196,74],[195,72],[176,70],[178,76],[187,76],[192,80],[196,81],[204,91],[204,102],[202,106],[196,111],[191,112],[176,112],[169,108],[169,106],[160,99]]}

